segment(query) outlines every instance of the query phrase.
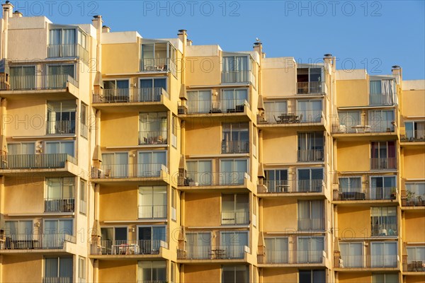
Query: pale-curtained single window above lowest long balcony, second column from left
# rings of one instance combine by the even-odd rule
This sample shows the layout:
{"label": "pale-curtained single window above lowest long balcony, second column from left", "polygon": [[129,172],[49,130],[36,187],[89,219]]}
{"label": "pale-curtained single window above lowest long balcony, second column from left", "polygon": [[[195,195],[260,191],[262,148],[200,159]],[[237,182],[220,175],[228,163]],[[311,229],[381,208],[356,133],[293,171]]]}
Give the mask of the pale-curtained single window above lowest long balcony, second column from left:
{"label": "pale-curtained single window above lowest long balcony, second column from left", "polygon": [[166,187],[139,187],[139,218],[166,218]]}

